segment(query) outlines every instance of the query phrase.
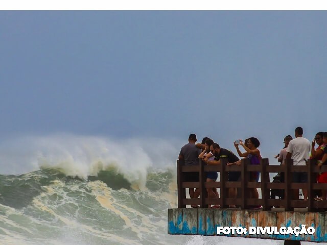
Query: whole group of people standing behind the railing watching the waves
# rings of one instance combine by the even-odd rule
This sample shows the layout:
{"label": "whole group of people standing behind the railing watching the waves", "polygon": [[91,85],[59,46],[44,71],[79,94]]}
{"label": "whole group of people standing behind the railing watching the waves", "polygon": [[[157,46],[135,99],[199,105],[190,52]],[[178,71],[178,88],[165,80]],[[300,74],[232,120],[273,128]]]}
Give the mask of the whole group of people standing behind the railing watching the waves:
{"label": "whole group of people standing behind the railing watching the waves", "polygon": [[[281,164],[285,164],[285,159],[293,159],[294,165],[306,165],[309,152],[311,151],[310,159],[316,159],[319,166],[327,165],[327,148],[325,148],[325,144],[327,144],[327,132],[322,133],[318,132],[312,141],[310,141],[304,137],[303,129],[301,127],[297,127],[295,129],[295,138],[293,139],[291,135],[288,135],[284,138],[285,147],[281,150],[281,152],[275,156],[278,162]],[[261,154],[258,149],[260,146],[260,141],[255,137],[247,138],[246,140],[236,140],[234,142],[234,146],[236,148],[237,154],[236,156],[232,151],[221,148],[218,143],[215,143],[214,140],[205,137],[203,138],[201,143],[196,143],[197,137],[195,134],[190,134],[189,143],[185,144],[179,153],[178,159],[183,160],[185,165],[197,165],[199,164],[199,159],[202,159],[208,165],[217,165],[220,164],[220,159],[227,159],[227,166],[237,164],[241,165],[240,158],[248,158],[250,160],[250,164],[259,165]],[[317,148],[315,148],[316,143],[318,144]],[[240,146],[244,149],[244,152],[240,150]],[[189,172],[184,173],[185,179],[184,181],[188,182],[198,182],[199,181],[199,173]],[[308,180],[308,173],[293,173],[293,182],[295,183],[306,183]],[[239,171],[229,171],[227,181],[239,181],[241,177],[241,172]],[[280,174],[281,182],[284,181],[283,173]],[[206,172],[206,181],[216,181],[218,178],[217,172]],[[250,172],[249,173],[249,181],[258,182],[260,178],[260,172]],[[327,183],[327,173],[321,173],[317,176],[318,183]],[[207,188],[206,189],[208,198],[219,198],[219,193],[217,188]],[[256,188],[249,189],[249,198],[258,199],[259,193]],[[308,191],[306,189],[302,189],[303,196],[305,200],[308,199]],[[190,198],[198,198],[200,194],[200,190],[198,188],[189,188]],[[294,190],[294,198],[298,198],[299,190]],[[237,188],[229,188],[228,189],[228,197],[236,198],[237,197]],[[316,197],[315,200],[322,201],[326,200],[327,191],[322,190],[319,197]],[[192,208],[198,208],[198,205],[191,205]],[[235,208],[235,205],[229,205],[229,208]],[[211,206],[209,208],[220,208],[219,205]],[[260,209],[261,206],[251,206],[251,209]]]}

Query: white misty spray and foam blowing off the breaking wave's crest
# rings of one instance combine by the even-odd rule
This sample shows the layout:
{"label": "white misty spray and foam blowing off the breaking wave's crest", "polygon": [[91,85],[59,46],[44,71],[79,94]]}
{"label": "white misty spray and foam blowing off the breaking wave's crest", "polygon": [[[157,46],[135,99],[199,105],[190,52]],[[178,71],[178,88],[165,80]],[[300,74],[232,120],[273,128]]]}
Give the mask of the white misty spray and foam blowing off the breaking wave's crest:
{"label": "white misty spray and foam blowing off the breaking wave's crest", "polygon": [[144,188],[149,167],[174,168],[180,144],[177,140],[158,138],[114,140],[71,134],[26,136],[2,142],[0,166],[3,174],[56,167],[67,176],[82,179],[113,168],[135,188]]}

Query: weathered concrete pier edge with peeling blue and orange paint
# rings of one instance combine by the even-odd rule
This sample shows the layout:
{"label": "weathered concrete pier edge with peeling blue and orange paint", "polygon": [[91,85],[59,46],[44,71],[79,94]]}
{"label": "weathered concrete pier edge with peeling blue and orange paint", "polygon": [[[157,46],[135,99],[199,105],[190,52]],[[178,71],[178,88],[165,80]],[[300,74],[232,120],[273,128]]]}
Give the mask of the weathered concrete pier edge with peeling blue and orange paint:
{"label": "weathered concrete pier edge with peeling blue and orange paint", "polygon": [[263,239],[327,242],[325,212],[276,212],[240,209],[169,209],[168,234],[217,235],[217,227],[314,227],[313,235],[224,235]]}

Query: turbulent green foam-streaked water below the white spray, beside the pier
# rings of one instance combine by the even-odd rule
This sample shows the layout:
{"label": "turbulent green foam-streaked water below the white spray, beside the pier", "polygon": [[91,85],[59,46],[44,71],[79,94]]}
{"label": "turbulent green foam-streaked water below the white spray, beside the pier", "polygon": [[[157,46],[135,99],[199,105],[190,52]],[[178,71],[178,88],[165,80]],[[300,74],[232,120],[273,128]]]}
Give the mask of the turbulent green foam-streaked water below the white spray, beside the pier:
{"label": "turbulent green foam-streaked water below the white spray, beside the pier", "polygon": [[[137,190],[114,170],[87,180],[59,169],[0,175],[1,244],[167,244],[175,205],[170,171],[149,171]],[[177,238],[183,242],[185,238]]]}

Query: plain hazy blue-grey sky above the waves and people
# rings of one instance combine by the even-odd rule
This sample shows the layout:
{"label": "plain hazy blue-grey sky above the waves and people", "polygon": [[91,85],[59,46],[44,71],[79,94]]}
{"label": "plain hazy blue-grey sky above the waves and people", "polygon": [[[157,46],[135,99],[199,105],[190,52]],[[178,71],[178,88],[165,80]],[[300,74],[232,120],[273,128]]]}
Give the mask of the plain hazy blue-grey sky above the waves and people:
{"label": "plain hazy blue-grey sky above the waves and people", "polygon": [[1,11],[0,139],[196,133],[272,155],[327,131],[326,40],[325,11]]}

